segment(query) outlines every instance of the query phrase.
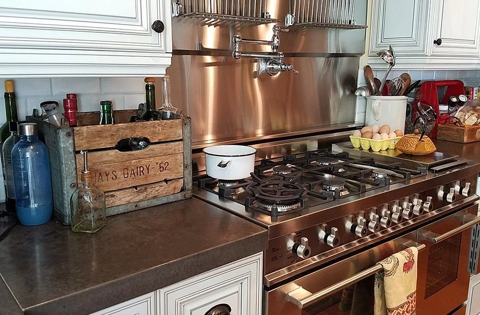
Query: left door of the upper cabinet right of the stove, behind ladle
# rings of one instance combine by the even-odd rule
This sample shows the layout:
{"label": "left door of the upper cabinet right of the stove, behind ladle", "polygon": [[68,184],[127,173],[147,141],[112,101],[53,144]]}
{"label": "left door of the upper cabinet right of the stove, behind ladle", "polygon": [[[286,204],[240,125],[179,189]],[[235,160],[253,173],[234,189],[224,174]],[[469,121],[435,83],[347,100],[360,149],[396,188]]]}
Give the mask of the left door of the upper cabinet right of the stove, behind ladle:
{"label": "left door of the upper cabinet right of the stove, behind ladle", "polygon": [[372,8],[370,56],[390,45],[397,56],[426,55],[426,0],[373,0]]}

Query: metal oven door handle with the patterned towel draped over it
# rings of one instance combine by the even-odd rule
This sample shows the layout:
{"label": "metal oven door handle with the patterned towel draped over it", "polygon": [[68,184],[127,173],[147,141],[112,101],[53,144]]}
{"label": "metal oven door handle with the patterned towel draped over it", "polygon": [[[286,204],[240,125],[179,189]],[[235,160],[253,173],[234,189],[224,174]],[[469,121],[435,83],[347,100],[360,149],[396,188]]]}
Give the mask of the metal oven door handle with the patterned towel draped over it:
{"label": "metal oven door handle with the patterned towel draped over it", "polygon": [[[415,243],[415,242],[412,242],[412,243]],[[418,244],[418,243],[415,243],[415,244],[419,252],[423,251],[426,248],[425,244]],[[357,283],[358,281],[361,281],[365,278],[368,278],[382,271],[382,268],[383,267],[380,264],[375,264],[374,266],[368,269],[365,269],[364,271],[361,271],[350,278],[347,278],[345,280],[332,284],[329,287],[326,287],[315,293],[311,293],[308,290],[304,289],[303,287],[297,286],[297,288],[293,289],[292,291],[286,294],[286,300],[297,305],[298,308],[304,308],[322,299],[325,299],[326,297],[329,297],[337,292],[340,292],[341,290]]]}

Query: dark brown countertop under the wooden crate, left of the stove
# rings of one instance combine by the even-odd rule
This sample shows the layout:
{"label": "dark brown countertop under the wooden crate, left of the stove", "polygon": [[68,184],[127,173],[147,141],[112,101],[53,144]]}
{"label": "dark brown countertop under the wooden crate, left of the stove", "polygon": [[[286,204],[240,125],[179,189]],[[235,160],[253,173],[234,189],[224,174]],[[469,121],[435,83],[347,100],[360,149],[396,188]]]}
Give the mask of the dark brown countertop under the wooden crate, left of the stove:
{"label": "dark brown countertop under the wooden crate, left of the stove", "polygon": [[0,242],[0,314],[88,314],[267,247],[267,230],[195,198],[109,217],[93,235],[17,224]]}

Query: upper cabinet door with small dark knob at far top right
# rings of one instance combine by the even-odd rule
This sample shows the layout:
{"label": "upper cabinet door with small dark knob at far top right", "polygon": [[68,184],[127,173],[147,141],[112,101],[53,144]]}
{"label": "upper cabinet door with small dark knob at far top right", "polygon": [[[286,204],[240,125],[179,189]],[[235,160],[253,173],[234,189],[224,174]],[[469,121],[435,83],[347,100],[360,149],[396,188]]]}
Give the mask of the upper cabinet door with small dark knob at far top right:
{"label": "upper cabinet door with small dark knob at far top right", "polygon": [[430,43],[432,55],[478,57],[478,0],[435,0],[430,12],[434,26]]}

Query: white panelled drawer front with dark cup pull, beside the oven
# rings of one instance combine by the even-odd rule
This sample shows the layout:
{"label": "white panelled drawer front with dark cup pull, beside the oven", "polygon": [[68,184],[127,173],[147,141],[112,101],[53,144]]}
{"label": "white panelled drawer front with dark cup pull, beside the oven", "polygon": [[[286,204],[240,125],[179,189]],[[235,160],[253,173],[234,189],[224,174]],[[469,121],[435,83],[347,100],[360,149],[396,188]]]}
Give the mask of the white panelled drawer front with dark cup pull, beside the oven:
{"label": "white panelled drawer front with dark cup pull, beside the oven", "polygon": [[261,266],[259,253],[160,289],[157,315],[205,315],[215,307],[260,314]]}

